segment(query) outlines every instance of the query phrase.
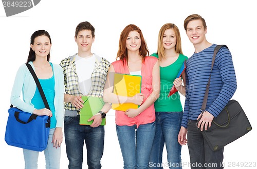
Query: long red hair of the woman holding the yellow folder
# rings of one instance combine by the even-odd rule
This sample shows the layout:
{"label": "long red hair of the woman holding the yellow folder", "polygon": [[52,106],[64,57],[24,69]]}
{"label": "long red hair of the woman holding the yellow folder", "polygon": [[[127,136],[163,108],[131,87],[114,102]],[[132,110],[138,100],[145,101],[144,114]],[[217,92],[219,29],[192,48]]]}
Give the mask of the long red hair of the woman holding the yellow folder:
{"label": "long red hair of the woman holding the yellow folder", "polygon": [[117,52],[116,60],[119,58],[123,61],[123,64],[124,61],[127,61],[126,39],[131,31],[137,31],[140,35],[141,47],[139,48],[139,55],[142,56],[142,62],[144,62],[146,56],[149,56],[149,50],[143,37],[142,31],[136,25],[130,24],[127,25],[120,34],[119,50]]}

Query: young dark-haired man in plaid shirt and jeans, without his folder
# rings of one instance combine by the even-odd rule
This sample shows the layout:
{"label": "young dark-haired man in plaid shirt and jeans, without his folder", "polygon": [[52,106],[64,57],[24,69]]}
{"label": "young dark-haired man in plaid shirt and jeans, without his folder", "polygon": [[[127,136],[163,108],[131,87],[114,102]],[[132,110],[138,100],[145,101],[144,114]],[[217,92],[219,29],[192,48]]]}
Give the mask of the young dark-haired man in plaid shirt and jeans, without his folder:
{"label": "young dark-haired man in plaid shirt and jeans, without his folder", "polygon": [[76,28],[75,41],[78,53],[61,61],[64,73],[64,134],[69,168],[82,168],[83,146],[86,143],[88,168],[101,168],[103,155],[104,125],[102,119],[111,109],[105,103],[99,113],[89,119],[91,125],[80,125],[81,96],[102,97],[107,71],[111,65],[103,57],[91,53],[95,40],[95,28],[88,22]]}

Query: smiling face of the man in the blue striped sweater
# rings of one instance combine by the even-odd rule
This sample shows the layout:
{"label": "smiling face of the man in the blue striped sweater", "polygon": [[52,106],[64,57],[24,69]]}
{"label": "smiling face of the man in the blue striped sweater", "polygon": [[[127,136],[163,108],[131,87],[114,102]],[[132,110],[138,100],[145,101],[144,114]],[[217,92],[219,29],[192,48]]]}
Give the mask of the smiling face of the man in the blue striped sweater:
{"label": "smiling face of the man in the blue striped sweater", "polygon": [[207,28],[204,28],[200,19],[191,20],[187,25],[187,36],[193,45],[201,44],[206,40]]}

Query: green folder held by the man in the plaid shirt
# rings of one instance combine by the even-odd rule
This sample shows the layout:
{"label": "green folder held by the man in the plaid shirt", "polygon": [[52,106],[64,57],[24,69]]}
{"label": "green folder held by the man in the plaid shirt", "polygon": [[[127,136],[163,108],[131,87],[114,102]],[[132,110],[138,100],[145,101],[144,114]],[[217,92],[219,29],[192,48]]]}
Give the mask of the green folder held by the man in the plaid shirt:
{"label": "green folder held by the man in the plaid shirt", "polygon": [[[87,120],[102,109],[104,101],[102,97],[82,96],[81,98],[84,101],[84,107],[80,109],[80,125],[90,125],[94,120]],[[105,124],[106,121],[105,118],[103,118],[100,125]]]}

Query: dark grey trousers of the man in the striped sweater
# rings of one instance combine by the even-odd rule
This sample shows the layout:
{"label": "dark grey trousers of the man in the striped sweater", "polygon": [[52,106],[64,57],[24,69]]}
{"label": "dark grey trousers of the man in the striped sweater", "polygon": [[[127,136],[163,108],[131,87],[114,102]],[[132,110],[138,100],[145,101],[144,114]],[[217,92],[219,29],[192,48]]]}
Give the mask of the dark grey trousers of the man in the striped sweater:
{"label": "dark grey trousers of the man in the striped sweater", "polygon": [[196,127],[196,120],[188,121],[188,150],[191,168],[223,168],[223,151],[212,151],[208,143]]}

